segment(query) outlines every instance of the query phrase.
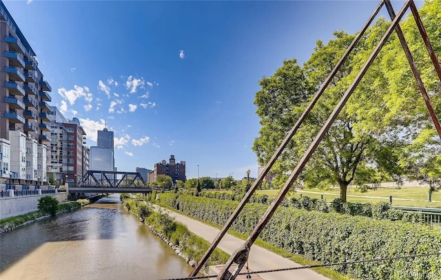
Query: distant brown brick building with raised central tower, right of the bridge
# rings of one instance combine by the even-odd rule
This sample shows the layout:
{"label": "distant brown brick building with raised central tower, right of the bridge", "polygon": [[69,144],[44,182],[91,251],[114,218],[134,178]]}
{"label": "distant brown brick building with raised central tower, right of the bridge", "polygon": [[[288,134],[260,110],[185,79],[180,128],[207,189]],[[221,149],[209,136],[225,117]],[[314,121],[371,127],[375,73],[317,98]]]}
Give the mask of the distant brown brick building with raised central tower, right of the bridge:
{"label": "distant brown brick building with raised central tower, right of the bridge", "polygon": [[187,180],[187,177],[185,177],[185,161],[176,163],[174,155],[170,155],[169,163],[165,160],[155,163],[153,171],[148,173],[148,182],[156,181],[158,175],[161,174],[172,177],[173,184],[176,183],[176,180],[185,182]]}

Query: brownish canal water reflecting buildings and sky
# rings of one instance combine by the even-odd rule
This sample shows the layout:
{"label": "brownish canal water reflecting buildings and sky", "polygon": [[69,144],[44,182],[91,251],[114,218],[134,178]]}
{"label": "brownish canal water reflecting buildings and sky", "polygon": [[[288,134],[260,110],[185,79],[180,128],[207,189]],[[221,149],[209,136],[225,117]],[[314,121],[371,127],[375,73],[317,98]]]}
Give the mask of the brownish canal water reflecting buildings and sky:
{"label": "brownish canal water reflecting buildings and sky", "polygon": [[0,279],[164,279],[191,267],[119,195],[0,235]]}

